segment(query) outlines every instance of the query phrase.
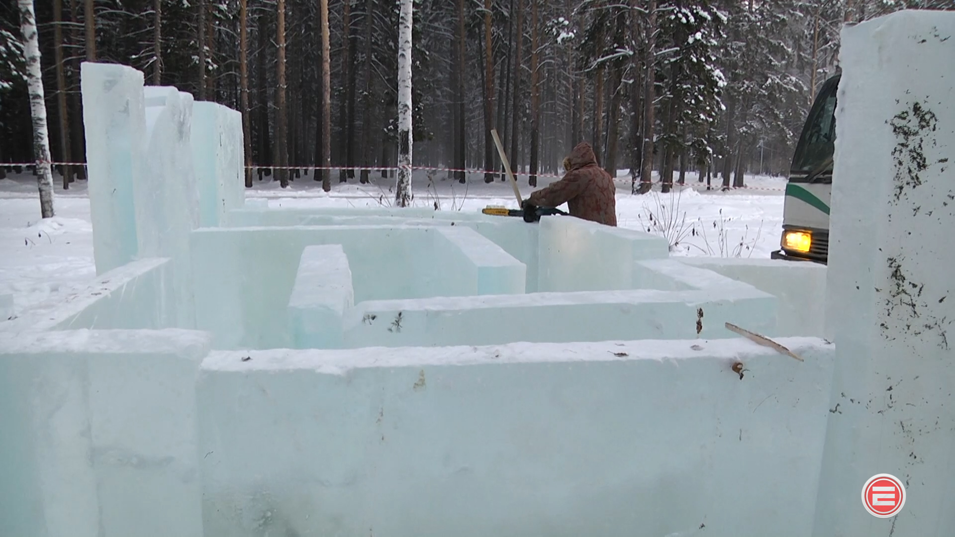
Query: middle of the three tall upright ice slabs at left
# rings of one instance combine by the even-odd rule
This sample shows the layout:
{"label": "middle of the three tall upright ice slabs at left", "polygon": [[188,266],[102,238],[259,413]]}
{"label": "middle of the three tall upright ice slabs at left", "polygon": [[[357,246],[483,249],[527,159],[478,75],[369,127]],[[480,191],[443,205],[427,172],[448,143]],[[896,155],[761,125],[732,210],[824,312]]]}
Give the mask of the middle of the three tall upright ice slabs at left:
{"label": "middle of the three tall upright ice slabs at left", "polygon": [[199,191],[190,139],[192,96],[172,87],[144,89],[145,170],[137,184],[141,257],[171,257],[176,282],[177,325],[192,328],[189,231],[199,226]]}

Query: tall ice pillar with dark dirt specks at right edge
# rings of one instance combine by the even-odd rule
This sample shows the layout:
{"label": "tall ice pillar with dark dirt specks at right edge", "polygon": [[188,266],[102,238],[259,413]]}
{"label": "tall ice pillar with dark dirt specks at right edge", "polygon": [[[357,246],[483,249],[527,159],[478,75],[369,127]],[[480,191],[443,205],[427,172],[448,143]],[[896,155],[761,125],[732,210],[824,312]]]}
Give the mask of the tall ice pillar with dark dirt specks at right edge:
{"label": "tall ice pillar with dark dirt specks at right edge", "polygon": [[[814,534],[955,535],[955,12],[901,11],[841,42]],[[894,519],[859,508],[878,473],[908,487]]]}

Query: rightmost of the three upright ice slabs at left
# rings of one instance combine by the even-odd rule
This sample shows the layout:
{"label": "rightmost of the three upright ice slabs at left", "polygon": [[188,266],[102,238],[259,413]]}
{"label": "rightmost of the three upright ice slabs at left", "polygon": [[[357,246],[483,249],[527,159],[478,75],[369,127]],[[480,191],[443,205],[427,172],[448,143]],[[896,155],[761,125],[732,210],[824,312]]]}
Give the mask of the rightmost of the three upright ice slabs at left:
{"label": "rightmost of the three upright ice slabs at left", "polygon": [[208,101],[193,103],[192,158],[199,183],[200,224],[223,226],[245,199],[242,114]]}

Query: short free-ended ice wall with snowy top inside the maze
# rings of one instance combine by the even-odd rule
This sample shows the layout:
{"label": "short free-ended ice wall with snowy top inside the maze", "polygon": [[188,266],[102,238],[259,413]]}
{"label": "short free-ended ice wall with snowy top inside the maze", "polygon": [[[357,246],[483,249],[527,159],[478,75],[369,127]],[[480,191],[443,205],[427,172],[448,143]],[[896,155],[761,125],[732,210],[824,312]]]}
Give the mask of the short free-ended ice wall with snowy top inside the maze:
{"label": "short free-ended ice wall with snowy top inside the maze", "polygon": [[342,316],[353,305],[349,259],[341,245],[302,250],[288,299],[294,348],[340,348]]}

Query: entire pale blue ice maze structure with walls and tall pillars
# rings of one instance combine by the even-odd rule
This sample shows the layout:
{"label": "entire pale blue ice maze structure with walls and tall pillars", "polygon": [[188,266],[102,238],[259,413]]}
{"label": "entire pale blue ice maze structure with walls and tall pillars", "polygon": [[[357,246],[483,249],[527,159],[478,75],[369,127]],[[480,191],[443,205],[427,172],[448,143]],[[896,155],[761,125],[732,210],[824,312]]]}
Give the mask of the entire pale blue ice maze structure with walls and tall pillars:
{"label": "entire pale blue ice maze structure with walls and tall pillars", "polygon": [[[244,204],[234,113],[84,64],[104,265],[0,323],[0,535],[955,534],[953,30],[846,31],[828,269],[565,217]],[[914,102],[935,130],[900,183]],[[859,503],[881,472],[911,478],[897,521]]]}

